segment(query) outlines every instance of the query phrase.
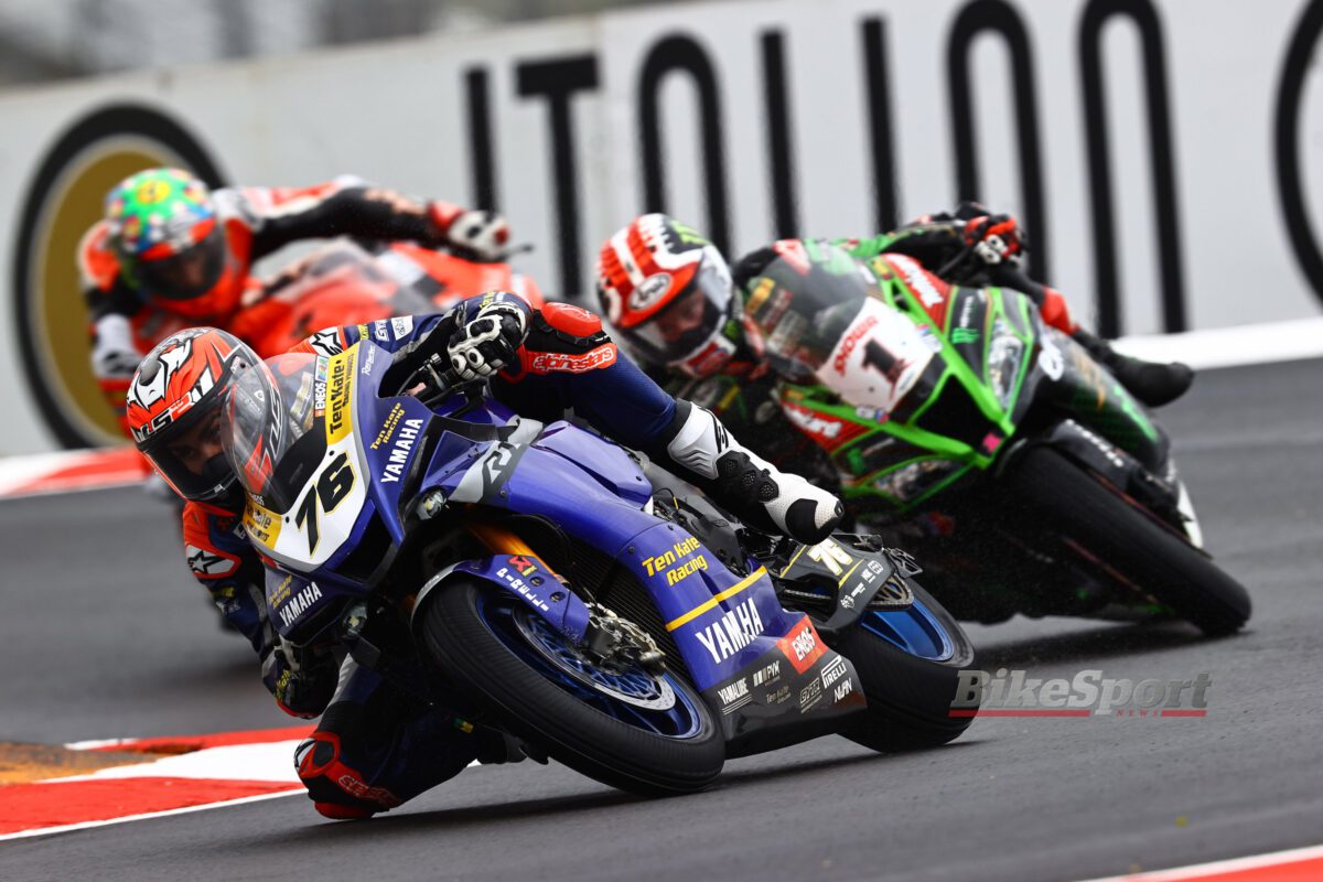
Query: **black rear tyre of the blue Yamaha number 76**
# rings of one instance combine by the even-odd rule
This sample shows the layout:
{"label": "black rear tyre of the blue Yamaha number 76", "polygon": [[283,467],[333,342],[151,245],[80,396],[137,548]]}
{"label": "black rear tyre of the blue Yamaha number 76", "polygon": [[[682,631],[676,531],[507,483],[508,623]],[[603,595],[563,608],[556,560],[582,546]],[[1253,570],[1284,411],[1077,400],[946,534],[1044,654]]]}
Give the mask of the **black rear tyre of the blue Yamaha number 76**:
{"label": "black rear tyre of the blue Yamaha number 76", "polygon": [[974,722],[972,717],[951,717],[960,672],[978,668],[974,644],[927,591],[913,579],[909,584],[954,643],[950,659],[933,661],[904,652],[865,627],[872,614],[841,633],[833,647],[853,662],[868,698],[868,709],[841,734],[884,754],[941,747]]}

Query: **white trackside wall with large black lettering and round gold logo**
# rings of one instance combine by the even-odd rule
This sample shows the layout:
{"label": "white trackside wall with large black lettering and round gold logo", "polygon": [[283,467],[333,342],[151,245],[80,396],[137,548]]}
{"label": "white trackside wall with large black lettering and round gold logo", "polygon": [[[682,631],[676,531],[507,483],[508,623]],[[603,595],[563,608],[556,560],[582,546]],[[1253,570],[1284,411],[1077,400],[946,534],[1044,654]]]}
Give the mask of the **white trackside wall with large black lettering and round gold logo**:
{"label": "white trackside wall with large black lettering and round gold logo", "polygon": [[520,268],[586,305],[644,210],[740,253],[980,198],[1106,335],[1315,315],[1320,37],[1323,0],[767,0],[12,93],[0,454],[115,438],[73,255],[159,163],[496,208]]}

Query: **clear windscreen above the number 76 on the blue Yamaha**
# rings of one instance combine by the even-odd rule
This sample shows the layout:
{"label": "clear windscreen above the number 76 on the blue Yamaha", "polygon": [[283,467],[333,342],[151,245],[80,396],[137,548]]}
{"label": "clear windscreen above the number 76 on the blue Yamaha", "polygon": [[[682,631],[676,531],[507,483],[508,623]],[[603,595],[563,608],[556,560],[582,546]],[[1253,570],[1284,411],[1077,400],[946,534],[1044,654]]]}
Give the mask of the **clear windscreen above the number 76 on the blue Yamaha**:
{"label": "clear windscreen above the number 76 on the blue Yamaha", "polygon": [[286,353],[245,370],[230,393],[225,454],[259,502],[287,512],[325,452],[325,356]]}

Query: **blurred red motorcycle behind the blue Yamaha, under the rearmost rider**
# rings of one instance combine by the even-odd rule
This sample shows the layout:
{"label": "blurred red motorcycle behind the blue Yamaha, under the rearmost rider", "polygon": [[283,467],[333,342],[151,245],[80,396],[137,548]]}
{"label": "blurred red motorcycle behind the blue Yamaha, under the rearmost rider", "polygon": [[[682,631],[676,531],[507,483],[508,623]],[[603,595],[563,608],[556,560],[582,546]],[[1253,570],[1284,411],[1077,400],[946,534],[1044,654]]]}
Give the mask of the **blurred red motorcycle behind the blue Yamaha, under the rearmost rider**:
{"label": "blurred red motorcycle behind the blue Yamaha, under the rearmost rider", "polygon": [[442,312],[493,290],[513,291],[533,308],[545,303],[537,283],[504,262],[404,242],[368,249],[336,241],[265,282],[229,331],[270,358],[323,328]]}

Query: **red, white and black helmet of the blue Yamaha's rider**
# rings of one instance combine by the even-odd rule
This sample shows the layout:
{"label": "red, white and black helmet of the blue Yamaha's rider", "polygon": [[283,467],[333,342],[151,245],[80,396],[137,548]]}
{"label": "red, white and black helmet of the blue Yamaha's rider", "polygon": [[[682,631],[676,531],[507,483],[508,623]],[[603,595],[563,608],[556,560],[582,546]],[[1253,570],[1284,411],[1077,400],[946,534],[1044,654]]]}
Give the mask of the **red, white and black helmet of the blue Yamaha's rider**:
{"label": "red, white and black helmet of the blue Yamaha's rider", "polygon": [[156,344],[134,372],[126,395],[134,443],[184,499],[216,500],[233,487],[221,447],[230,389],[258,364],[238,337],[189,328]]}

